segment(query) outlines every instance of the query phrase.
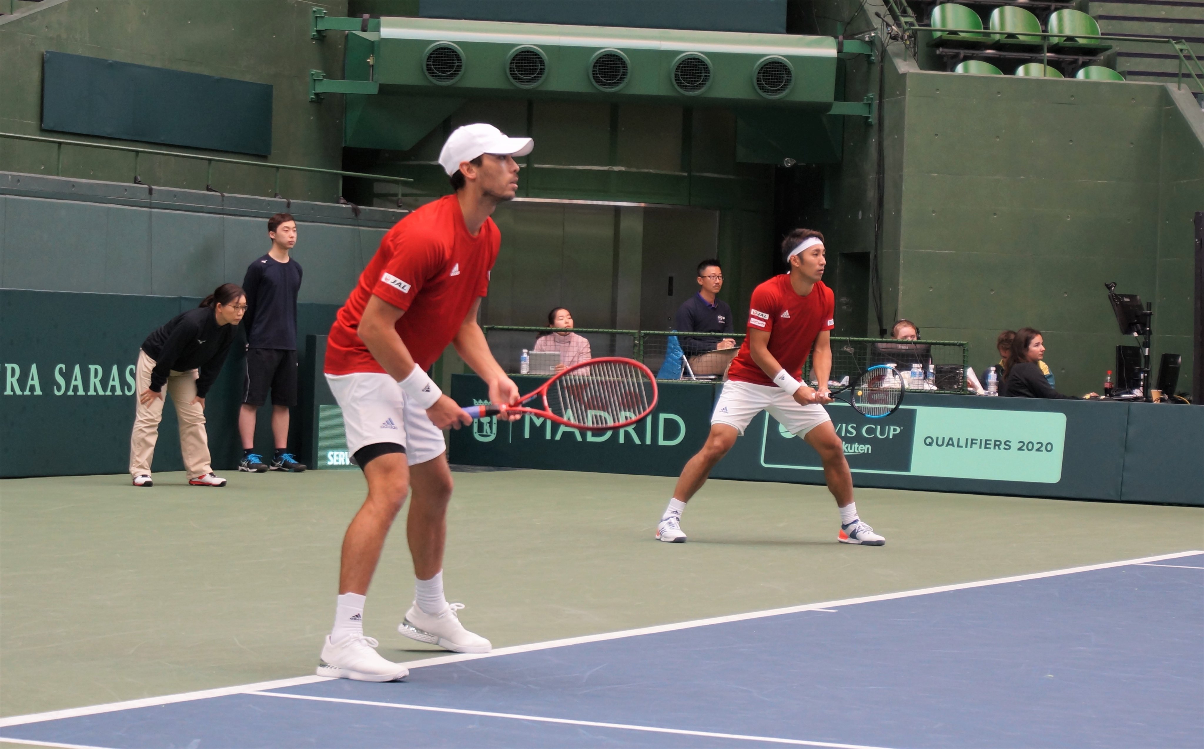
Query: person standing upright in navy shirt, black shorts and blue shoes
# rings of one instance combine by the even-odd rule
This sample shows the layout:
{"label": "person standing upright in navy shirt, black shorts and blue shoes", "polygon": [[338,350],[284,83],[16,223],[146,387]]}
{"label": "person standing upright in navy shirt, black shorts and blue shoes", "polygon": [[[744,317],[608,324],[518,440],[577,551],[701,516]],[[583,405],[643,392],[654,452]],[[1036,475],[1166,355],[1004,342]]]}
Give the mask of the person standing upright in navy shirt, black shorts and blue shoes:
{"label": "person standing upright in navy shirt, black shorts and blue shoes", "polygon": [[289,256],[297,242],[297,224],[288,213],[267,219],[272,248],[247,267],[247,370],[243,374],[238,434],[242,437],[240,471],[262,473],[268,466],[255,452],[255,413],[272,391],[273,471],[299,472],[305,465],[289,452],[289,408],[297,405],[297,293],[301,264]]}

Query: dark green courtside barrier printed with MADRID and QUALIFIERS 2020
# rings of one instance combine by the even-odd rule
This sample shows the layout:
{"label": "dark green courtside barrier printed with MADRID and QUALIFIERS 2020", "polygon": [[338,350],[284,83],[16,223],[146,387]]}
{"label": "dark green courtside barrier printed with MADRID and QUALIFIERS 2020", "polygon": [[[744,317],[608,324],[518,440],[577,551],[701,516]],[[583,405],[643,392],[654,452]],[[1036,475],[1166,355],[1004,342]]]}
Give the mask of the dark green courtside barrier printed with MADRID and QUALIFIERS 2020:
{"label": "dark green courtside barrier printed with MADRID and QUALIFIERS 2020", "polygon": [[[541,378],[515,378],[533,390]],[[661,382],[650,419],[612,434],[574,434],[536,418],[483,420],[450,432],[453,462],[677,476],[710,430],[721,385]],[[472,374],[452,378],[462,406],[483,402]],[[1120,500],[1128,406],[1084,401],[907,395],[899,411],[867,419],[827,407],[857,486]],[[767,414],[712,478],[822,484],[819,456]]]}

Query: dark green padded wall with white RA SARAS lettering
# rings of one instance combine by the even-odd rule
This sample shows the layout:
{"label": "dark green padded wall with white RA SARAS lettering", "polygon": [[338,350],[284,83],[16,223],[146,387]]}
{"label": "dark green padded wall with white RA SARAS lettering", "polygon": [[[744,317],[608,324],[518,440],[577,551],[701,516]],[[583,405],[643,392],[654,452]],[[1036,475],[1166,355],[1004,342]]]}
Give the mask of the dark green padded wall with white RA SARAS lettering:
{"label": "dark green padded wall with white RA SARAS lettering", "polygon": [[[196,297],[0,290],[0,477],[122,473],[134,424],[134,364],[147,335]],[[300,305],[297,341],[325,335],[336,305]],[[242,334],[206,399],[206,431],[217,471],[237,466],[243,387]],[[305,349],[297,352],[303,360]],[[308,393],[308,389],[303,389]],[[170,397],[169,397],[170,401]],[[294,409],[290,444],[308,452],[302,413]],[[259,414],[256,444],[271,447],[271,406]],[[70,459],[64,458],[70,454]],[[175,407],[159,426],[155,471],[181,471]]]}

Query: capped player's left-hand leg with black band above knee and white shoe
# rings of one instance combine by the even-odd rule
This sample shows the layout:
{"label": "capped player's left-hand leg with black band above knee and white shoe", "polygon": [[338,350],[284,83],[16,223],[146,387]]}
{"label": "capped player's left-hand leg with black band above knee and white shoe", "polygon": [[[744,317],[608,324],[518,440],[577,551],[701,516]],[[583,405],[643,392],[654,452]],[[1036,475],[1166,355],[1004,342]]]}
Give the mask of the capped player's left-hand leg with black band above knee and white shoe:
{"label": "capped player's left-hand leg with black band above knee and white shoe", "polygon": [[406,501],[409,468],[405,453],[386,453],[364,465],[368,496],[343,535],[335,627],[321,648],[318,676],[393,682],[409,670],[382,657],[364,636],[364,602],[394,518]]}

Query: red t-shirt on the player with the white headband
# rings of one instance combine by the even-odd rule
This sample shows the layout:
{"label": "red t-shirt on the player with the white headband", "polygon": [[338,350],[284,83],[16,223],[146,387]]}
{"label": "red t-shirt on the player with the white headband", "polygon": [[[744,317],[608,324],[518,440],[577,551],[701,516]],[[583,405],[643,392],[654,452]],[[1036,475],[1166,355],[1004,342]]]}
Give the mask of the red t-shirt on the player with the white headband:
{"label": "red t-shirt on the player with the white headband", "polygon": [[[816,282],[807,296],[795,294],[790,285],[790,273],[774,276],[752,290],[749,302],[749,332],[765,330],[769,334],[769,353],[795,379],[802,378],[803,362],[815,346],[820,331],[832,330],[832,289]],[[773,385],[773,379],[752,361],[749,340],[744,338],[739,353],[732,359],[727,378],[756,385]]]}

